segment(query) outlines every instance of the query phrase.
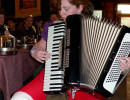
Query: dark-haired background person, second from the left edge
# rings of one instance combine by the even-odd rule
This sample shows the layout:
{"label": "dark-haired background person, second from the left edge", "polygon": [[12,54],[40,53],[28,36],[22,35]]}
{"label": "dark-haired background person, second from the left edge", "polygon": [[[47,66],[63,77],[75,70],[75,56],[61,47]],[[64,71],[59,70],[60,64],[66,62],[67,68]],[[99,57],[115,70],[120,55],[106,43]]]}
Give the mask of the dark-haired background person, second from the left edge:
{"label": "dark-haired background person, second from the left edge", "polygon": [[9,32],[15,37],[16,36],[16,24],[17,24],[16,19],[9,17],[6,20],[6,23],[7,23]]}

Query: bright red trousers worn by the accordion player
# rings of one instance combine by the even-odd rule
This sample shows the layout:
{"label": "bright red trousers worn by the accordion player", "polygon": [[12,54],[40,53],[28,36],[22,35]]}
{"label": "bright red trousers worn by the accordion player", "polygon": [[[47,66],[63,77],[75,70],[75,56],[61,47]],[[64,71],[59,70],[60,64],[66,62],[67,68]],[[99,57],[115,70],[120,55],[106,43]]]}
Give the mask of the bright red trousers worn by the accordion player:
{"label": "bright red trousers worn by the accordion player", "polygon": [[[30,83],[25,85],[18,91],[22,91],[30,95],[34,100],[45,100],[46,94],[43,92],[43,77],[44,69],[33,79]],[[90,95],[87,92],[77,91],[75,92],[75,97],[72,99],[72,94],[67,91],[69,94],[69,100],[101,100],[101,98],[96,98]]]}

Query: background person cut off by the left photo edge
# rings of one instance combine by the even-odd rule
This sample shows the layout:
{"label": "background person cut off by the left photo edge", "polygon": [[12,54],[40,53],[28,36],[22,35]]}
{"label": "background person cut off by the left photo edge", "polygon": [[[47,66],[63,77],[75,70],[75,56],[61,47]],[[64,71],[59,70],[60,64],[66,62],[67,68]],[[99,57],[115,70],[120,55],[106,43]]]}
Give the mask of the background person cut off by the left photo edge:
{"label": "background person cut off by the left photo edge", "polygon": [[5,27],[4,25],[4,21],[5,21],[5,11],[4,9],[0,8],[0,36],[10,34],[7,27]]}

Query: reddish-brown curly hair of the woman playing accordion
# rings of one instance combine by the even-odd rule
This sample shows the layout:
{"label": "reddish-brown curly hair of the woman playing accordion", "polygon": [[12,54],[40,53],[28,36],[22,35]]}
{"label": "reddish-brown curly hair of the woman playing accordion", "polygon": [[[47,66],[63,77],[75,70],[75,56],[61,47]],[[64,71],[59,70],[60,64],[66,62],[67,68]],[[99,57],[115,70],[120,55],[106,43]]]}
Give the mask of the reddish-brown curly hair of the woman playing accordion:
{"label": "reddish-brown curly hair of the woman playing accordion", "polygon": [[[56,0],[54,0],[56,1]],[[93,15],[94,11],[94,5],[89,0],[68,0],[71,4],[75,5],[77,8],[80,5],[83,5],[82,14],[83,15]],[[55,6],[58,7],[58,10],[60,10],[61,0],[57,0],[57,4]]]}

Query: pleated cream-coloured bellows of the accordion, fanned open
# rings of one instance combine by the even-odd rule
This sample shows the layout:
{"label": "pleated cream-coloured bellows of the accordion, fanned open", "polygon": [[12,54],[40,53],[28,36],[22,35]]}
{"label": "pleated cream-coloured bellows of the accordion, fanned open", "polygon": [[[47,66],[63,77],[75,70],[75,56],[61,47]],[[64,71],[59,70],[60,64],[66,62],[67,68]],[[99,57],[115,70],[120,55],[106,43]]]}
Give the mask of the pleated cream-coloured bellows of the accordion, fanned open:
{"label": "pleated cream-coloured bellows of the accordion, fanned open", "polygon": [[82,18],[81,83],[95,88],[121,28],[108,20]]}

